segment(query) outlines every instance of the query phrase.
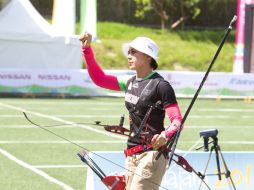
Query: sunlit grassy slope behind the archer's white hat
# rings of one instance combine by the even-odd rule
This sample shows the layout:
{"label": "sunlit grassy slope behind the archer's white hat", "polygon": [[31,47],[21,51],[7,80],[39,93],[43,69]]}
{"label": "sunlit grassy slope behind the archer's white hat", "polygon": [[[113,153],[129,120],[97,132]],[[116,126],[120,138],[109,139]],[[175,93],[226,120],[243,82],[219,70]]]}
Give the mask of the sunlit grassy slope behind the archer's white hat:
{"label": "sunlit grassy slope behind the archer's white hat", "polygon": [[[128,69],[126,58],[122,53],[122,44],[137,36],[148,36],[160,48],[159,69],[185,71],[207,70],[225,32],[223,30],[161,31],[110,22],[98,22],[97,30],[101,42],[94,43],[93,48],[98,63],[104,69]],[[217,58],[213,71],[232,71],[234,39],[235,32],[232,31]]]}

